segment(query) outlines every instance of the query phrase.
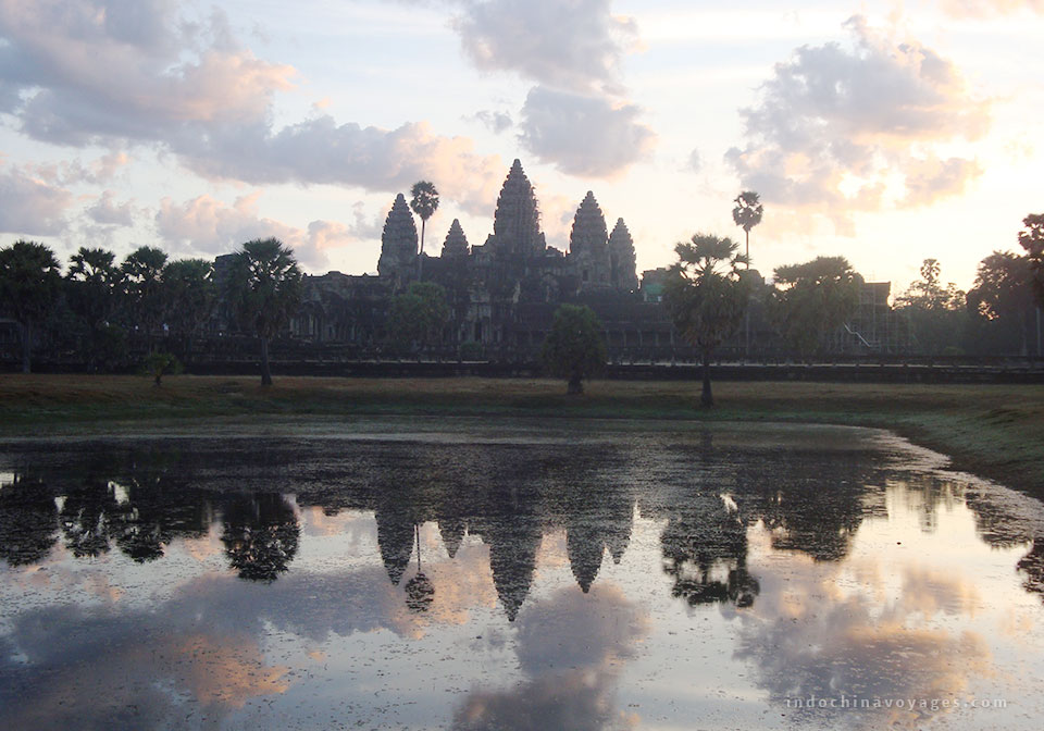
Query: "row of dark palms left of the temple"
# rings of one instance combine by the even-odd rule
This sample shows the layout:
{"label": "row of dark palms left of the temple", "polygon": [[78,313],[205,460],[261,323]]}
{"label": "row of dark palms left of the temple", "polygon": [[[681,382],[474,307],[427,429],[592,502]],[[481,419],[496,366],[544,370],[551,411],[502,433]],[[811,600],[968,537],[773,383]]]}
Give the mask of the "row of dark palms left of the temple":
{"label": "row of dark palms left of the temple", "polygon": [[221,302],[231,321],[258,337],[269,385],[269,342],[296,311],[301,277],[293,250],[275,238],[244,244],[220,278],[211,261],[170,260],[148,246],[119,263],[112,251],[82,247],[63,276],[50,248],[18,240],[0,249],[0,312],[18,323],[24,373],[35,331],[47,329],[57,338],[52,347],[79,352],[91,372],[119,369],[132,346],[144,349],[159,385],[176,360],[158,349],[160,340],[188,352]]}

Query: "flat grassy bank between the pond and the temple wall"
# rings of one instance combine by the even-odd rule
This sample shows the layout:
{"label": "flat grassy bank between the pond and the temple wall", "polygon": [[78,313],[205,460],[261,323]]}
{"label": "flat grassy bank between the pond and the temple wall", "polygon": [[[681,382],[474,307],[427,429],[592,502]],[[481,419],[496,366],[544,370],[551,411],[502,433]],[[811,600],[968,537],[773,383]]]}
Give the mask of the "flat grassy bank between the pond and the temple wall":
{"label": "flat grassy bank between the pond and the temple wall", "polygon": [[580,397],[542,380],[0,376],[0,436],[130,431],[189,419],[352,414],[530,416],[781,421],[891,429],[958,469],[1044,497],[1044,386],[596,381]]}

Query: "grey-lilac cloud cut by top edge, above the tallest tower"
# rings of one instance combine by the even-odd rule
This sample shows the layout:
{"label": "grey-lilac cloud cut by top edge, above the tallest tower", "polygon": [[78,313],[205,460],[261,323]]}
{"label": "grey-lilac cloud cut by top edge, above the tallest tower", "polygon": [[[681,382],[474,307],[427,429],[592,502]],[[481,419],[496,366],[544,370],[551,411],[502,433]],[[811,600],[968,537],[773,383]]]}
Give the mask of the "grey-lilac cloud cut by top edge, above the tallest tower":
{"label": "grey-lilac cloud cut by top edge, above the tallest tower", "polygon": [[620,61],[637,38],[610,0],[465,2],[453,26],[464,53],[490,71],[579,92],[620,92]]}

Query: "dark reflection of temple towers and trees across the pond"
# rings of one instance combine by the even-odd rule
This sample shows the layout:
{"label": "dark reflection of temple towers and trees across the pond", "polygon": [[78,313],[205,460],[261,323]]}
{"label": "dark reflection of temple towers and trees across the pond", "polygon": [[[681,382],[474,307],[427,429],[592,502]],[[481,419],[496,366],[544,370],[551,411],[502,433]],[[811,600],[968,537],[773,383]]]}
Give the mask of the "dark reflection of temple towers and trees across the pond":
{"label": "dark reflection of temple towers and trees across the pond", "polygon": [[[221,451],[197,443],[110,445],[57,461],[40,456],[38,466],[28,455],[0,486],[0,558],[29,565],[61,543],[74,557],[115,547],[148,562],[220,523],[229,568],[271,582],[297,555],[299,508],[361,510],[374,516],[386,575],[411,610],[438,602],[431,580],[418,580],[420,569],[408,578],[418,526],[430,524],[449,560],[465,540],[488,547],[499,603],[514,620],[544,536],[564,535],[572,575],[587,593],[606,560],[624,558],[637,513],[662,521],[663,571],[675,596],[691,606],[743,608],[760,591],[747,561],[753,529],[767,531],[776,550],[841,560],[862,521],[885,513],[892,475],[870,453],[837,460],[767,449],[754,459],[709,437],[645,449],[639,461],[654,467],[637,471],[637,453],[620,445],[360,442],[338,449],[302,442]],[[921,500],[922,530],[930,531],[936,506],[958,497],[945,480],[922,482],[910,483],[907,499]],[[1032,543],[1018,570],[1029,591],[1044,593],[1044,532],[987,496],[970,493],[967,501],[991,545]]]}

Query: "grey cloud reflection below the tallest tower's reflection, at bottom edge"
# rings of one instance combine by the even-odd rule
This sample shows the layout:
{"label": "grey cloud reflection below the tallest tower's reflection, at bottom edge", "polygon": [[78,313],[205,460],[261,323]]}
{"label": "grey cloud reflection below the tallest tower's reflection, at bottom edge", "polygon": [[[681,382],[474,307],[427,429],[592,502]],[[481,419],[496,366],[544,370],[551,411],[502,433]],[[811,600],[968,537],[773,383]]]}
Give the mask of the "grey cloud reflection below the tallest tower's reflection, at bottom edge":
{"label": "grey cloud reflection below the tallest tower's reflection, at bottom edge", "polygon": [[[597,610],[595,608],[597,607]],[[575,586],[529,605],[518,618],[515,653],[526,680],[511,690],[473,689],[455,729],[632,729],[618,708],[623,664],[650,630],[647,609],[614,585]]]}

